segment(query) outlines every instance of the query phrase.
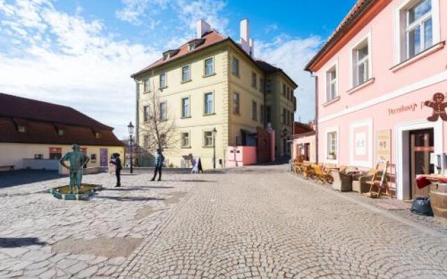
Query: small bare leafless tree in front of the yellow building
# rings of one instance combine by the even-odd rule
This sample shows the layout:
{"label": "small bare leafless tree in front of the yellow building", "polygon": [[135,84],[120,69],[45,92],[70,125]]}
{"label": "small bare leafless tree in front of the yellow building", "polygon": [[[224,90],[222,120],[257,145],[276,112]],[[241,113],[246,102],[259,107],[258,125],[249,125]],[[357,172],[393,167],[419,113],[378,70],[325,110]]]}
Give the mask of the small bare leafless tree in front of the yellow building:
{"label": "small bare leafless tree in front of the yellow building", "polygon": [[140,146],[148,151],[175,148],[177,143],[174,115],[168,110],[166,101],[161,101],[160,94],[161,89],[155,88],[152,83],[152,90],[145,94],[148,98],[139,104],[142,116],[142,121],[138,119],[142,136]]}

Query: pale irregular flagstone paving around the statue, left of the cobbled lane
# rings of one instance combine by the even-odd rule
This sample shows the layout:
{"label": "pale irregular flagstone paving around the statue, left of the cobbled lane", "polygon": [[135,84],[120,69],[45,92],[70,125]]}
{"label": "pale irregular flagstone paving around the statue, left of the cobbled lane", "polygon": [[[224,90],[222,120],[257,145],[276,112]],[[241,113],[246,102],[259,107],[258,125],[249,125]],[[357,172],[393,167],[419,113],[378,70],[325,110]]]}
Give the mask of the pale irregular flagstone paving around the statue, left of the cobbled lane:
{"label": "pale irregular flagstone paving around the statue, left of the cobbled lane", "polygon": [[[46,193],[68,178],[0,188],[0,278],[110,278],[200,184],[187,177],[169,174],[170,181],[151,182],[149,174],[123,175],[126,187],[113,188],[115,176],[85,175],[85,183],[105,187],[88,202]],[[6,185],[20,181],[2,178]]]}

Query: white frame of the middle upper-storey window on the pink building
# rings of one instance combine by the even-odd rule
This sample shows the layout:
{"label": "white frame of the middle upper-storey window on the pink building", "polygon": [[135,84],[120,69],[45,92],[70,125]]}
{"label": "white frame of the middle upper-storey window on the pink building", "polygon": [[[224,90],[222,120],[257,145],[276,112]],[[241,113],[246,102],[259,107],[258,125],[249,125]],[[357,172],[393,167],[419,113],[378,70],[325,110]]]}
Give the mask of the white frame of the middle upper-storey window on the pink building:
{"label": "white frame of the middle upper-storey window on the pink building", "polygon": [[[361,86],[362,84],[365,84],[368,80],[371,80],[372,77],[374,77],[373,75],[373,71],[372,71],[372,35],[371,35],[372,31],[369,30],[369,32],[365,35],[362,36],[362,38],[360,38],[360,40],[358,40],[355,44],[353,44],[353,46],[351,47],[351,67],[350,67],[350,85],[351,85],[351,89],[356,88],[358,86]],[[364,59],[362,59],[362,61],[358,61],[358,50],[362,47],[365,46],[365,43],[367,44],[368,47],[368,56]],[[361,84],[358,82],[358,66],[360,65],[360,63],[365,63],[365,61],[368,61],[368,75],[367,77],[365,77],[365,81],[362,82]]]}

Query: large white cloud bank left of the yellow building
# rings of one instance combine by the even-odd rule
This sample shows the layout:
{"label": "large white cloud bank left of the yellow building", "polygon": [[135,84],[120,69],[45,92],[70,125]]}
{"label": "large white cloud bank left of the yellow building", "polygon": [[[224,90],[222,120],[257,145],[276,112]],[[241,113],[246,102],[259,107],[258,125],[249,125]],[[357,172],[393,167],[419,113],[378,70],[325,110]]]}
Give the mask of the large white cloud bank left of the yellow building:
{"label": "large white cloud bank left of the yellow building", "polygon": [[[3,24],[0,37],[20,42],[15,55],[0,50],[0,91],[74,107],[115,127],[119,137],[126,135],[126,123],[135,114],[130,75],[158,58],[159,51],[118,40],[101,21],[62,13],[47,1],[34,1],[27,15],[18,12],[21,4],[6,6],[0,0],[0,15],[14,22]],[[25,40],[18,29],[36,39]]]}

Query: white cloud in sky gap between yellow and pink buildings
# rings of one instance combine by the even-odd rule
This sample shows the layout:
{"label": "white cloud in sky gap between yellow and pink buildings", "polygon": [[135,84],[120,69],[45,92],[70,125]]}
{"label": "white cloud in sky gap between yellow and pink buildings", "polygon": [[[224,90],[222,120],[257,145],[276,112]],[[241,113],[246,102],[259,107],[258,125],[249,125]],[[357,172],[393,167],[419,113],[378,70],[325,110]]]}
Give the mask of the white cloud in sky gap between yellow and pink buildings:
{"label": "white cloud in sky gap between yellow and pink buildings", "polygon": [[268,63],[282,68],[298,84],[295,97],[298,108],[295,119],[309,121],[315,117],[315,80],[303,69],[318,51],[322,40],[318,36],[309,38],[291,38],[278,36],[272,42],[260,42],[255,45],[255,53]]}

